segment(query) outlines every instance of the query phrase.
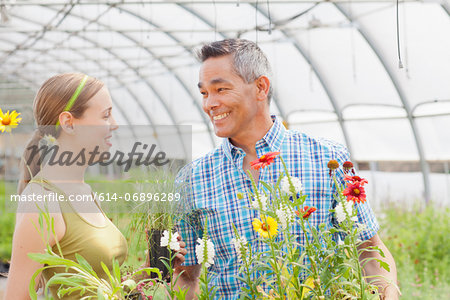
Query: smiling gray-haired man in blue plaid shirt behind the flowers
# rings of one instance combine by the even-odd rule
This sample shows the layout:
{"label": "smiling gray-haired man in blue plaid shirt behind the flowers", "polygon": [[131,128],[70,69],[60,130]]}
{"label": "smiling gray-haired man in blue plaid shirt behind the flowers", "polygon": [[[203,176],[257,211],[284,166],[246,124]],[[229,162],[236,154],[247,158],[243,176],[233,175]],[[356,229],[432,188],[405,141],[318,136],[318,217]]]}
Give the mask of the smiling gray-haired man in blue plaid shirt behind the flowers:
{"label": "smiling gray-haired man in blue plaid shirt behind the flowers", "polygon": [[[327,162],[336,159],[342,164],[349,154],[339,144],[286,130],[278,118],[270,115],[271,69],[255,43],[241,39],[213,42],[203,46],[199,57],[202,66],[198,87],[203,95],[203,110],[215,134],[225,139],[219,147],[189,166],[190,200],[198,212],[198,223],[203,225],[208,218],[208,236],[215,245],[216,256],[210,268],[215,275],[211,276],[211,285],[217,287],[218,297],[237,299],[242,283],[235,278],[239,265],[231,243],[232,224],[241,236],[254,241],[256,233],[251,221],[257,216],[248,209],[250,200],[239,199],[236,195],[252,190],[247,170],[258,181],[258,188],[262,188],[260,181],[276,181],[283,170],[280,159],[270,165],[270,171],[269,168],[254,170],[250,162],[267,152],[281,152],[291,175],[302,180],[303,193],[308,195],[305,204],[318,208],[310,222],[331,224],[334,217],[329,209],[335,203]],[[396,282],[394,259],[377,235],[379,226],[370,206],[367,203],[357,205],[358,222],[367,226],[360,236],[367,240],[364,246],[380,247],[391,270],[387,272],[380,269],[378,263],[371,262],[365,266],[366,275],[381,274]],[[198,292],[200,265],[196,260],[195,242],[201,233],[195,232],[187,222],[180,224],[180,232],[188,253],[185,266],[176,273],[185,271],[178,285],[190,288],[191,299]],[[377,255],[374,253],[366,252],[360,259]],[[386,282],[380,291],[386,299],[397,299],[395,287]]]}

